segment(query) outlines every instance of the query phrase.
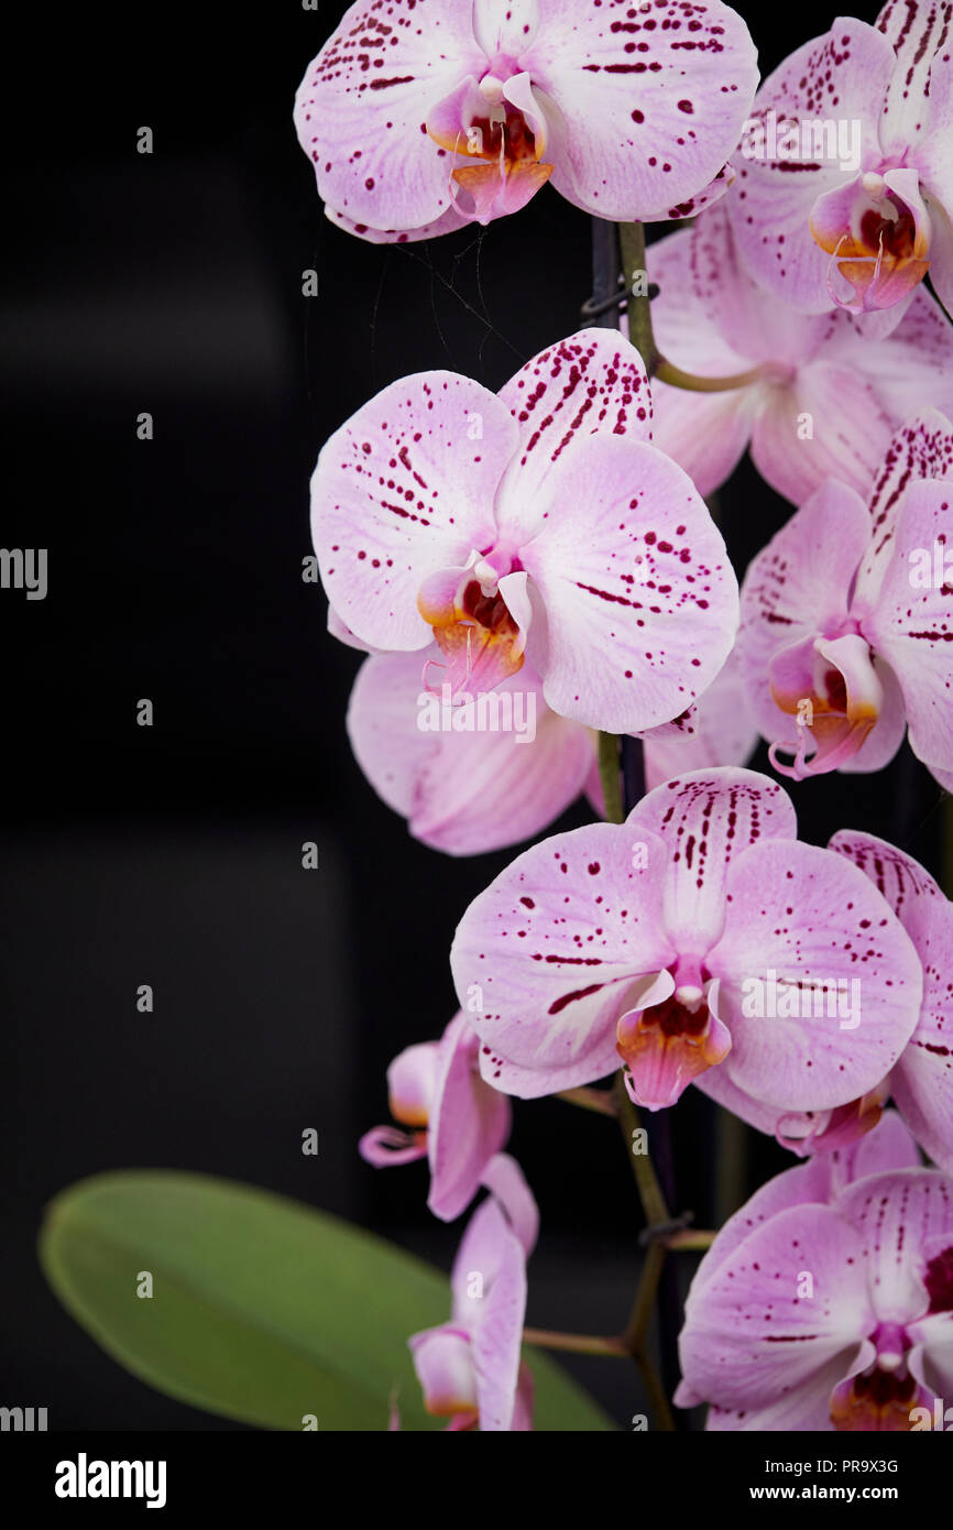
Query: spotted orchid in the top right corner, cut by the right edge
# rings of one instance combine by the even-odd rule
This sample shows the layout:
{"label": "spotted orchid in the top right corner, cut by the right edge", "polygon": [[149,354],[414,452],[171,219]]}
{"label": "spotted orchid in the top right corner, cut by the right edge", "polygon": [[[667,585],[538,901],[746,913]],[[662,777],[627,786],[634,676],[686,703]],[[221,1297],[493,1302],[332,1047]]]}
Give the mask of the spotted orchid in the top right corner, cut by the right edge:
{"label": "spotted orchid in the top right corner, cut by the right edge", "polygon": [[927,269],[953,303],[953,54],[945,8],[889,0],[838,17],[762,84],[736,161],[739,245],[808,314],[892,309]]}

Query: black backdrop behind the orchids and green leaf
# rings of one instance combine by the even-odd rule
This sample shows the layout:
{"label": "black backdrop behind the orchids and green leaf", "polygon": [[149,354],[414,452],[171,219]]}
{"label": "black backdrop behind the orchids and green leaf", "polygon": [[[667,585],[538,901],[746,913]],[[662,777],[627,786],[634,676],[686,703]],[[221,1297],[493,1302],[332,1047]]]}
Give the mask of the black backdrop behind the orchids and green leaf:
{"label": "black backdrop behind the orchids and green leaf", "polygon": [[[54,1429],[239,1427],[125,1375],[57,1305],[34,1242],[73,1180],[229,1175],[444,1265],[459,1238],[427,1215],[422,1166],[375,1172],[355,1143],[387,1120],[392,1056],[450,1017],[454,924],[511,852],[444,858],[361,777],[344,734],[359,656],[301,581],[307,479],[393,378],[448,366],[496,389],[578,327],[590,230],[549,188],[430,246],[329,225],[291,107],[343,9],[52,6],[8,57],[2,540],[49,549],[49,594],[0,594],[0,1401],[47,1406]],[[832,20],[740,9],[763,73]],[[722,506],[739,571],[789,513],[748,464]],[[863,826],[938,871],[941,791],[906,750],[884,776],[792,794],[805,838]],[[678,1209],[704,1226],[704,1102],[675,1125]],[[512,1149],[543,1213],[528,1320],[618,1330],[641,1213],[615,1128],[522,1105]],[[733,1204],[789,1161],[751,1135]],[[626,1427],[635,1375],[571,1368]]]}

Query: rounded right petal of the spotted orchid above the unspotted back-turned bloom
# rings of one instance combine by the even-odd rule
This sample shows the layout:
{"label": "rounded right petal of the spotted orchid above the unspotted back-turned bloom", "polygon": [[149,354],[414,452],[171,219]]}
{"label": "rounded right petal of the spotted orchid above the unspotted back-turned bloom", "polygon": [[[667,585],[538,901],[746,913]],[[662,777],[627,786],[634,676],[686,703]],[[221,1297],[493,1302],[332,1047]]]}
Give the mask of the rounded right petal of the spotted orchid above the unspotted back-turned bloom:
{"label": "rounded right petal of the spotted orchid above the unspotted back-turned bloom", "polygon": [[736,580],[698,490],[655,447],[580,441],[522,562],[546,610],[528,658],[554,711],[638,733],[684,713],[727,659]]}

